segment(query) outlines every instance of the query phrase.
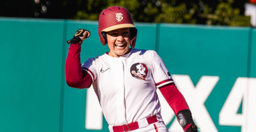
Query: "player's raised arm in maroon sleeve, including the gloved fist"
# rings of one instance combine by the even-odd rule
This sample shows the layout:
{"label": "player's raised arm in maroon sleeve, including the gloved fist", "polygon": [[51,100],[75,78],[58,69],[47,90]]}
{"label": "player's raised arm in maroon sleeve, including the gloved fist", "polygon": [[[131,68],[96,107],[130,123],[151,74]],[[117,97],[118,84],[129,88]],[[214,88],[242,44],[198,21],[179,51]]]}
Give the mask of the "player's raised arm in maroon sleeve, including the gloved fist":
{"label": "player's raised arm in maroon sleeve, including the gloved fist", "polygon": [[66,82],[70,87],[87,88],[92,84],[92,77],[88,72],[82,70],[80,62],[81,44],[90,37],[90,31],[80,29],[75,36],[67,41],[69,53],[65,63]]}

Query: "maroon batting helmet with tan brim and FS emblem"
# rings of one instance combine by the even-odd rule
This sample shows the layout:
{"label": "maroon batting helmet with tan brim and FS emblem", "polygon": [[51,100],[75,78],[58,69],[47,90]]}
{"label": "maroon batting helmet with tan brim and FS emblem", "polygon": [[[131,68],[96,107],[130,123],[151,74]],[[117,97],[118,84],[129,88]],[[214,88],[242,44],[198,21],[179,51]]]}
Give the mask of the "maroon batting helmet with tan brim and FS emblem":
{"label": "maroon batting helmet with tan brim and FS emblem", "polygon": [[[105,41],[102,32],[108,32],[111,30],[124,28],[124,27],[133,27],[135,30],[130,30],[131,35],[131,47],[135,47],[136,38],[137,38],[137,29],[134,26],[133,19],[130,15],[130,12],[126,8],[122,7],[109,7],[103,10],[99,15],[99,26],[98,33],[99,39],[102,45],[105,45]],[[106,38],[106,36],[105,36]]]}

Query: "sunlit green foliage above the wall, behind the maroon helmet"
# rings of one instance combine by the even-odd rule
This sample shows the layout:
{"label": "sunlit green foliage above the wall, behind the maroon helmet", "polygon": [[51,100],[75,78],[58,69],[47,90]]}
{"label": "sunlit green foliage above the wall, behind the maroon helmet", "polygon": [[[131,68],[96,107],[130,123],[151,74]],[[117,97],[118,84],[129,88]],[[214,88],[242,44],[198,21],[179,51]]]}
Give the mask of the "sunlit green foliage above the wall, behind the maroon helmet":
{"label": "sunlit green foliage above the wall, behind the maroon helmet", "polygon": [[135,22],[251,25],[250,17],[241,13],[243,6],[233,8],[241,4],[234,4],[234,0],[77,0],[77,3],[83,4],[84,9],[77,11],[74,19],[98,20],[103,9],[121,6],[130,11]]}

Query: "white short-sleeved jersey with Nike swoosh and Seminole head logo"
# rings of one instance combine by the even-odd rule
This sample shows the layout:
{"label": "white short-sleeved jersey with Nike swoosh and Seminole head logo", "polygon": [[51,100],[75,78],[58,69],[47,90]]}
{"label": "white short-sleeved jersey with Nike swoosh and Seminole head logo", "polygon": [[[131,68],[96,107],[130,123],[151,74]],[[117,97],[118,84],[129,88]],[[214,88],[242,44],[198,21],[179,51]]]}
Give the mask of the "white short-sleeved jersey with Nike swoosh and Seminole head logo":
{"label": "white short-sleeved jersey with Nike swoosh and Seminole head logo", "polygon": [[119,58],[107,53],[82,65],[93,79],[93,88],[109,125],[119,126],[157,115],[156,89],[173,83],[159,55],[152,50],[131,49]]}

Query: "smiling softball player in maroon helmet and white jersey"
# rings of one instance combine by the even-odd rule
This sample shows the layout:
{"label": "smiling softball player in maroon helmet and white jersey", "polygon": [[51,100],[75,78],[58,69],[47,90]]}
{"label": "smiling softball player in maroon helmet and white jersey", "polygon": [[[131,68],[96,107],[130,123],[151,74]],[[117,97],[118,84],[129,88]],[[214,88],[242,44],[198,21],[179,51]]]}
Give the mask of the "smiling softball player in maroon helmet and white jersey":
{"label": "smiling softball player in maroon helmet and white jersey", "polygon": [[89,58],[81,66],[81,44],[90,32],[77,30],[68,41],[71,45],[65,75],[70,87],[93,86],[110,132],[168,132],[160,114],[157,88],[183,130],[197,132],[191,111],[159,55],[152,50],[134,49],[137,29],[129,11],[117,6],[103,10],[98,33],[109,52]]}

